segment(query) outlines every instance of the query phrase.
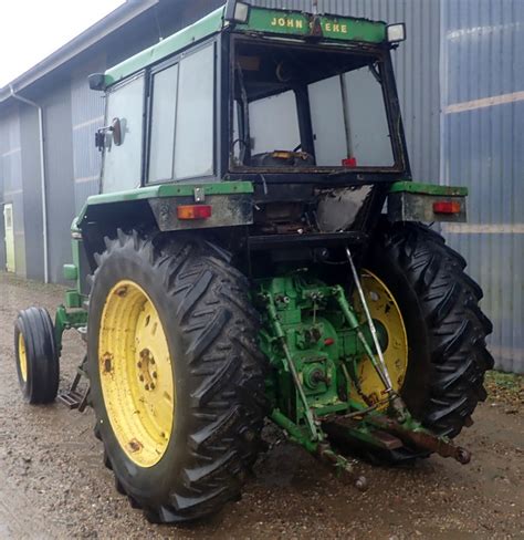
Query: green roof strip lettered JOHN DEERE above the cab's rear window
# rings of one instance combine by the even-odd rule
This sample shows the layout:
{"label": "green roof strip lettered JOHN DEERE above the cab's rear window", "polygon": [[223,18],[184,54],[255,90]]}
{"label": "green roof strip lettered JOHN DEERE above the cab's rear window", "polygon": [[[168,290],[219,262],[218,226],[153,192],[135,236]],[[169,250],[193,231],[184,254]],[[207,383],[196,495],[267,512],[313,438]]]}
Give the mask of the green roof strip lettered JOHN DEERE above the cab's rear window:
{"label": "green roof strip lettered JOHN DEERE above the cab's rear window", "polygon": [[[311,35],[313,17],[306,13],[252,8],[247,24],[239,24],[244,32]],[[386,40],[386,23],[366,19],[322,15],[319,18],[324,39],[382,43]]]}

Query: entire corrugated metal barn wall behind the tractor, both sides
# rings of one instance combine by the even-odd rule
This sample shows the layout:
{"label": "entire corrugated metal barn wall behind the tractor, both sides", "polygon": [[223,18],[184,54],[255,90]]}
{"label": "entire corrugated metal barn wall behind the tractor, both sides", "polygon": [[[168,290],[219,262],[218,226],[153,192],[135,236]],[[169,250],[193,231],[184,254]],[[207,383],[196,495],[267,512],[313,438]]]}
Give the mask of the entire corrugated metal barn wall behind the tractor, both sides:
{"label": "entire corrugated metal barn wall behind the tractor, both sides", "polygon": [[[312,10],[312,0],[251,0],[269,8]],[[96,193],[93,145],[103,98],[86,75],[197,20],[222,0],[163,0],[73,60],[25,95],[43,103],[46,124],[50,277],[70,260],[71,219]],[[469,260],[494,321],[491,346],[503,370],[524,371],[524,1],[318,0],[322,12],[407,23],[394,52],[413,177],[465,184],[470,218],[446,227]],[[442,115],[441,115],[442,110]],[[442,142],[442,144],[441,144]],[[0,205],[13,202],[17,272],[43,279],[35,111],[13,103],[0,117]],[[0,215],[0,239],[3,216]],[[0,268],[4,268],[0,241]]]}

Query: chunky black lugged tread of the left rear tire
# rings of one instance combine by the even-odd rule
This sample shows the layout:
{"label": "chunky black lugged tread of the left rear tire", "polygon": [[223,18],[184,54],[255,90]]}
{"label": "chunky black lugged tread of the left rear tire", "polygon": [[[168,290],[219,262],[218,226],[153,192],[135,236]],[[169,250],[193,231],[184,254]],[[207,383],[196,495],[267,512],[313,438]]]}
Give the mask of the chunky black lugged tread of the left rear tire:
{"label": "chunky black lugged tread of the left rear tire", "polygon": [[128,249],[150,261],[165,294],[178,307],[172,316],[189,365],[192,429],[182,472],[166,500],[140,499],[124,481],[118,486],[153,522],[193,520],[238,500],[261,447],[268,404],[259,315],[250,304],[248,280],[230,266],[222,248],[191,237],[154,247],[137,231],[119,230],[117,239],[107,239],[99,264]]}

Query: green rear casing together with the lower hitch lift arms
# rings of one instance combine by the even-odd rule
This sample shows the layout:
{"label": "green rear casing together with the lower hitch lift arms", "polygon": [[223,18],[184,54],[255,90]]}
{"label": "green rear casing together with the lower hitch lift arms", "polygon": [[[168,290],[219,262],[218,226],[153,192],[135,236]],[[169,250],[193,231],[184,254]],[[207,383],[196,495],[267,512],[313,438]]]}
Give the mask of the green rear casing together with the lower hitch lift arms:
{"label": "green rear casing together with the lower hitch lift arms", "polygon": [[[376,351],[368,325],[359,320],[340,285],[328,285],[313,272],[300,270],[258,280],[252,298],[262,320],[260,347],[271,364],[266,380],[271,419],[293,442],[347,470],[348,463],[329,447],[323,426],[328,429],[336,423],[335,415],[360,413],[352,423],[338,425],[349,439],[387,448],[376,435],[378,429],[405,442],[412,440],[413,433],[428,435],[421,448],[433,445],[437,451],[440,443],[449,444],[447,437],[423,428],[394,395],[385,412],[363,409],[348,398],[355,383],[346,374],[358,372],[363,357],[373,359]],[[364,334],[363,340],[356,339],[357,332]],[[378,332],[384,346],[387,329]]]}

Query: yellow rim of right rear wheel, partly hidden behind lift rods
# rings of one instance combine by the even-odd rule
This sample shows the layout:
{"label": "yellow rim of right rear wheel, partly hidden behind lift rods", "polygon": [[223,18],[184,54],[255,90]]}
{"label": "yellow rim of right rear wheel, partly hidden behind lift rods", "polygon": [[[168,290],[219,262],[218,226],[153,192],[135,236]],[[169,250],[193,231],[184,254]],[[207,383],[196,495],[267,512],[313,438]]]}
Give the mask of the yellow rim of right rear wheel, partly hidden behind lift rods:
{"label": "yellow rim of right rear wheel, partly hidden behind lift rods", "polygon": [[[399,392],[408,368],[408,336],[400,309],[391,291],[369,270],[363,271],[361,284],[371,319],[387,332],[384,360],[391,376],[392,386]],[[360,322],[365,324],[366,318],[358,291],[355,291],[353,301]],[[368,356],[363,356],[357,363],[356,375],[359,387],[352,385],[352,399],[363,405],[371,405],[386,398],[384,384]]]}

